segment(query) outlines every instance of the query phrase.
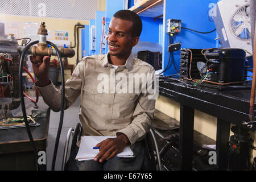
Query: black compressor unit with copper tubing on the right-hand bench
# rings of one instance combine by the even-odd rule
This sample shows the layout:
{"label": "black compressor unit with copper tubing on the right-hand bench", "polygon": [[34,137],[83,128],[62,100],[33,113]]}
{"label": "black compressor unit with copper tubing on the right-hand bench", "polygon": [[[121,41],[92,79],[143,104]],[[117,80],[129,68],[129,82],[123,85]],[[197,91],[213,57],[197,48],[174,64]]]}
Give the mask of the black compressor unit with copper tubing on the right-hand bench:
{"label": "black compressor unit with copper tubing on the right-hand bench", "polygon": [[204,83],[218,89],[226,89],[227,85],[245,87],[247,85],[245,55],[243,49],[237,48],[183,48],[180,53],[180,77],[196,81],[195,86]]}

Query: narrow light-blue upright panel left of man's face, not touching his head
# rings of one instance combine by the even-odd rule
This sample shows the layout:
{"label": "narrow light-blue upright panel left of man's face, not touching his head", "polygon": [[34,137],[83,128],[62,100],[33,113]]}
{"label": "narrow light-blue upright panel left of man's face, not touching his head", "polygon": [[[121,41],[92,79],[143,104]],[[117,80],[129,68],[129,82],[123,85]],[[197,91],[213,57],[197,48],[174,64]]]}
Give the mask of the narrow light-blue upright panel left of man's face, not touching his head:
{"label": "narrow light-blue upright panel left of man's face, not touching his head", "polygon": [[[99,55],[101,50],[102,20],[105,14],[105,11],[96,11],[96,55]],[[104,52],[102,51],[102,54]]]}

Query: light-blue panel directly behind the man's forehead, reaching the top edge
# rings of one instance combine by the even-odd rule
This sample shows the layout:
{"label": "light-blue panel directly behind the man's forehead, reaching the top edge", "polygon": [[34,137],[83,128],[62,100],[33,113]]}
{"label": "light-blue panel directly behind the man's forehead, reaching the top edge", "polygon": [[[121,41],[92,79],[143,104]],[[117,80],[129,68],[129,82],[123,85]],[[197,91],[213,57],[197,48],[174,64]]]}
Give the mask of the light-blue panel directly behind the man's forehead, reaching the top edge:
{"label": "light-blue panel directly behind the man's forehead, reaching the top edge", "polygon": [[[131,0],[133,1],[133,0]],[[113,15],[119,11],[123,10],[124,7],[124,1],[123,0],[106,0],[106,15],[105,15],[105,21],[106,21],[106,34],[108,33],[108,27],[110,20],[112,19]],[[108,52],[108,46],[106,45],[105,53]]]}

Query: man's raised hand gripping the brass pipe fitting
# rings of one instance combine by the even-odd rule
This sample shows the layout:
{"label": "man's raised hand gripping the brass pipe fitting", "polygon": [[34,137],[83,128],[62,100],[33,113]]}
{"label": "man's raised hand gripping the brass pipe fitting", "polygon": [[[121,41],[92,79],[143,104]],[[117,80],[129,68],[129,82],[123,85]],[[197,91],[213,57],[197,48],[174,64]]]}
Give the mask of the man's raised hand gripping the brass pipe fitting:
{"label": "man's raised hand gripping the brass pipe fitting", "polygon": [[50,67],[50,57],[49,56],[30,56],[30,61],[32,63],[32,68],[35,76],[38,78],[38,86],[47,86],[51,84],[48,77],[48,71]]}

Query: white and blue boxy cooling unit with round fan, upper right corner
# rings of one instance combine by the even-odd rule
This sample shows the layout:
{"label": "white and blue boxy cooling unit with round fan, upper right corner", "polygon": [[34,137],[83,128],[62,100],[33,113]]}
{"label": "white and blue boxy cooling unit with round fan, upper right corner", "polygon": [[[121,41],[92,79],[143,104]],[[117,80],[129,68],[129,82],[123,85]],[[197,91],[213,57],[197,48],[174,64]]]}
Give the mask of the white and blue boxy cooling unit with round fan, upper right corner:
{"label": "white and blue boxy cooling unit with round fan, upper right corner", "polygon": [[252,52],[250,1],[219,1],[213,20],[221,47],[240,48]]}

